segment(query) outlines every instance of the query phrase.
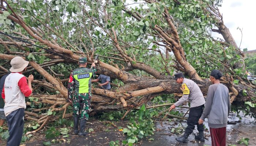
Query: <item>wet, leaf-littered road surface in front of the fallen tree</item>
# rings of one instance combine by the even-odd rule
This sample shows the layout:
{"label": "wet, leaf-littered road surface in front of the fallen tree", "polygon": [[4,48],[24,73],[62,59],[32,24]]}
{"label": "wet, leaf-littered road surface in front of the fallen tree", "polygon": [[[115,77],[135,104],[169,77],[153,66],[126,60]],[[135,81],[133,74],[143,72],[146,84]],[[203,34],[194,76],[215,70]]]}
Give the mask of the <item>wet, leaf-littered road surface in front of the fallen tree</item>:
{"label": "wet, leaf-littered road surface in front of the fallen tree", "polygon": [[[243,116],[243,114],[240,114]],[[121,127],[126,127],[128,121],[119,121],[113,122],[113,124],[109,121],[99,121],[95,119],[89,120],[89,124],[87,124],[87,131],[91,128],[94,131],[91,131],[89,135],[85,137],[78,137],[77,135],[72,135],[71,132],[69,137],[67,138],[56,138],[56,143],[52,143],[52,146],[109,146],[110,141],[121,141],[126,138],[123,135],[123,132],[119,131]],[[236,117],[236,114],[231,113],[229,115],[229,123],[227,125],[227,145],[235,144],[239,146],[240,144],[237,141],[241,138],[249,138],[249,146],[256,146],[256,122],[255,119],[251,119],[250,117],[242,117],[242,120],[239,120]],[[188,143],[178,143],[175,138],[177,136],[181,136],[179,134],[172,134],[173,128],[179,127],[181,124],[184,129],[187,126],[185,120],[174,119],[173,122],[163,122],[161,124],[156,122],[156,132],[154,135],[148,136],[143,140],[139,141],[137,145],[140,146],[210,146],[211,145],[211,137],[207,119],[204,122],[206,131],[205,131],[205,142],[195,141],[195,136],[198,131],[194,130],[193,134],[189,136]],[[179,129],[179,128],[178,128]],[[178,130],[176,129],[176,130]],[[195,128],[196,129],[196,128]],[[182,133],[182,132],[181,132]],[[154,139],[150,140],[149,139]],[[44,133],[34,134],[30,140],[23,143],[23,146],[43,146],[43,142],[49,141],[45,140]],[[0,141],[0,145],[6,145],[6,141]],[[243,145],[243,144],[242,144]]]}

